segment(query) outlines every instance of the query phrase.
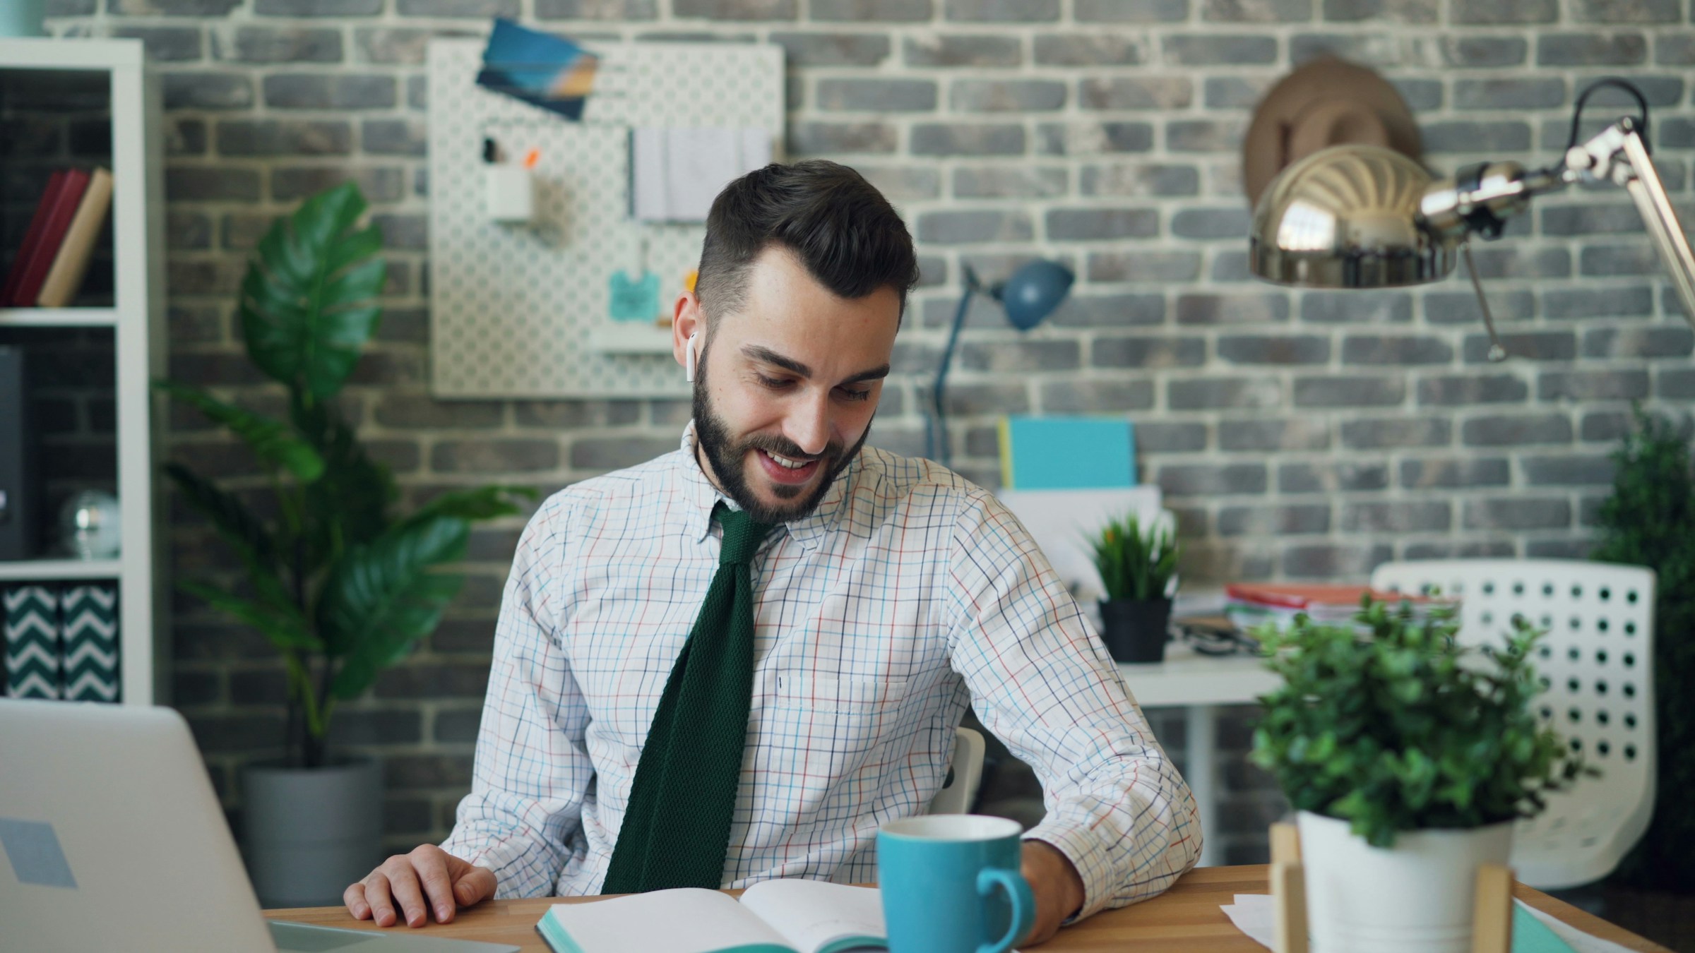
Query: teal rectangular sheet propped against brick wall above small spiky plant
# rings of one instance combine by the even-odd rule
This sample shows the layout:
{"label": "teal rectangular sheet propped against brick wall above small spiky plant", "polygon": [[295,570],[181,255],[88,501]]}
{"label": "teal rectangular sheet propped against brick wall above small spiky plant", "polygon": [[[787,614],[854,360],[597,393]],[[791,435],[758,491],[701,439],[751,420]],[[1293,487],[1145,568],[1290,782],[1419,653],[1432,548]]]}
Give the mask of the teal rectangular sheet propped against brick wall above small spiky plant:
{"label": "teal rectangular sheet propped against brick wall above small spiky plant", "polygon": [[1000,480],[1009,490],[1136,485],[1136,432],[1124,417],[1005,417]]}

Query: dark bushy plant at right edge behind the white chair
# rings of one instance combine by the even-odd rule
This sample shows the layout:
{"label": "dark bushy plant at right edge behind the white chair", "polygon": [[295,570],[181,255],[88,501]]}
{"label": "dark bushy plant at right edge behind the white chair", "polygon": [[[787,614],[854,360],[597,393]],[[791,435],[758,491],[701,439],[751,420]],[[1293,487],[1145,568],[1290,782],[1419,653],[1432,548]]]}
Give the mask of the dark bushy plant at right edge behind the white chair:
{"label": "dark bushy plant at right edge behind the white chair", "polygon": [[[1636,409],[1636,429],[1612,454],[1612,497],[1600,505],[1590,558],[1648,566],[1654,585],[1656,797],[1681,804],[1695,783],[1695,476],[1690,427]],[[1656,890],[1695,890],[1695,816],[1658,809],[1615,880]]]}

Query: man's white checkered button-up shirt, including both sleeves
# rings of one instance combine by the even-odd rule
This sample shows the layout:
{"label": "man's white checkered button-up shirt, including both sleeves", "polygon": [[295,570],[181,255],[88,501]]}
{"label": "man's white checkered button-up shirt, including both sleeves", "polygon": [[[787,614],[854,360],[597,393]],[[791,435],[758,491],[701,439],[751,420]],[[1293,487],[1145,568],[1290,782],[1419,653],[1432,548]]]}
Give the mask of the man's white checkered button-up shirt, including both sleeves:
{"label": "man's white checkered button-up shirt, including both sleeves", "polygon": [[[549,497],[495,626],[449,853],[500,897],[595,894],[647,726],[719,568],[722,497],[683,446]],[[1041,778],[1025,838],[1083,877],[1081,916],[1200,856],[1188,785],[1019,521],[927,460],[864,448],[753,560],[754,678],[724,887],[876,880],[876,829],[942,787],[966,705]]]}

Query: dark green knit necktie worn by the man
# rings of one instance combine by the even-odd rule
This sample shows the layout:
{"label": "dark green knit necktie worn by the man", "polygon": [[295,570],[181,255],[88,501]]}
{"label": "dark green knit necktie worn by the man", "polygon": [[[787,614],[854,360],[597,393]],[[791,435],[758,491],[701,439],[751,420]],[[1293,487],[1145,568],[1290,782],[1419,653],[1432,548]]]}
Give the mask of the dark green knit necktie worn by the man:
{"label": "dark green knit necktie worn by the man", "polygon": [[722,502],[712,517],[724,527],[719,571],[659,695],[602,894],[715,890],[724,878],[753,699],[749,563],[771,524]]}

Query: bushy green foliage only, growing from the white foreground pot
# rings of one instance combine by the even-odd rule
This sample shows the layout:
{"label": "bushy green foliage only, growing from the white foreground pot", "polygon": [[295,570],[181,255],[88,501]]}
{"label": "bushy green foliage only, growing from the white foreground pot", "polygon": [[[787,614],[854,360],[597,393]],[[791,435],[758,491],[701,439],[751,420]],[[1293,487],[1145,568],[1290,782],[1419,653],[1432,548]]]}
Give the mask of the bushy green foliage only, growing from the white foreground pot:
{"label": "bushy green foliage only, growing from the white foreground pot", "polygon": [[1483,649],[1454,641],[1451,609],[1415,621],[1366,594],[1354,619],[1254,633],[1283,685],[1259,697],[1251,758],[1297,809],[1390,846],[1398,831],[1531,817],[1587,772],[1531,709],[1541,633],[1524,619]]}

